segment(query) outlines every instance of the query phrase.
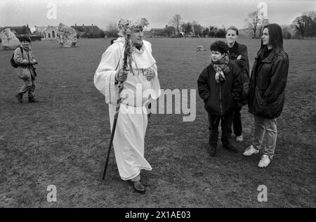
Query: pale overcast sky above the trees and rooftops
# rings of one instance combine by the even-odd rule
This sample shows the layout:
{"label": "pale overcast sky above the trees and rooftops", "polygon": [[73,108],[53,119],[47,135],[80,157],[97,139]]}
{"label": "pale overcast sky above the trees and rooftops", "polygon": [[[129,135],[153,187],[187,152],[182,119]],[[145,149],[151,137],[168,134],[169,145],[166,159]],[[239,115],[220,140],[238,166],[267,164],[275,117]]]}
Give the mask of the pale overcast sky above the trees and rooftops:
{"label": "pale overcast sky above the trees and rooftops", "polygon": [[[162,28],[179,13],[183,21],[203,26],[245,27],[244,19],[260,2],[268,6],[270,22],[289,25],[305,11],[316,11],[315,0],[0,0],[0,27],[29,24],[30,27],[58,25],[98,25],[105,29],[119,18],[149,20],[151,28]],[[48,7],[57,7],[56,19],[48,19]],[[53,15],[53,14],[50,14]]]}

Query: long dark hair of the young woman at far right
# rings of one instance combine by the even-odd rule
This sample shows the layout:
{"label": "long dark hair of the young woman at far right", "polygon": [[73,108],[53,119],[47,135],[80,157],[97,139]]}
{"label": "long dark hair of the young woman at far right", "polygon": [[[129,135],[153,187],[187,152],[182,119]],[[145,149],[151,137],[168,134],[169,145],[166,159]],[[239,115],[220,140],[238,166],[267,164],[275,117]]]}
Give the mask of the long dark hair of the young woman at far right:
{"label": "long dark hair of the young woman at far right", "polygon": [[[269,31],[269,44],[272,46],[272,48],[275,50],[275,53],[277,55],[284,55],[285,51],[283,48],[283,34],[282,34],[282,28],[273,23],[269,25],[265,25],[263,27],[263,30],[265,28],[268,28]],[[264,50],[265,46],[263,45],[263,41],[261,39],[261,49],[259,53],[261,53]]]}

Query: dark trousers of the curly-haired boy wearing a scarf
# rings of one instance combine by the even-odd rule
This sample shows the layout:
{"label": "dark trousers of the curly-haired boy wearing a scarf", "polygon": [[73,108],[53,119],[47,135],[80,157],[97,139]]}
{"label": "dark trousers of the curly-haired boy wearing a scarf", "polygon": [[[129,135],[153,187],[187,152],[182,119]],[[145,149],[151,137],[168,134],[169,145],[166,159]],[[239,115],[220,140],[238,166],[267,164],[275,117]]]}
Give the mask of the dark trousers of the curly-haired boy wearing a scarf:
{"label": "dark trousers of the curly-haired boy wearing a scarf", "polygon": [[230,144],[232,119],[234,119],[234,112],[230,112],[224,116],[209,113],[209,144],[211,146],[217,147],[219,122],[222,129],[222,143],[224,146]]}

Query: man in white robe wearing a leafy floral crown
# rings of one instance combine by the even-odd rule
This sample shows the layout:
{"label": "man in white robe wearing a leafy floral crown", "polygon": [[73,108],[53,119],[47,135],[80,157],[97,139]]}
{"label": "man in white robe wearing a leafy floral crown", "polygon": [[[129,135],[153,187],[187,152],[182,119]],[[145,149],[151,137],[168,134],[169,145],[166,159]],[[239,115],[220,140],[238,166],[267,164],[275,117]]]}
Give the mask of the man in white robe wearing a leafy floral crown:
{"label": "man in white robe wearing a leafy floral crown", "polygon": [[[145,133],[147,129],[147,103],[160,95],[160,84],[156,60],[152,56],[152,45],[143,39],[143,27],[149,25],[145,18],[119,21],[119,39],[107,48],[96,74],[94,84],[105,95],[109,104],[111,129],[117,108],[119,82],[124,82],[124,94],[119,108],[117,129],[114,134],[114,153],[119,176],[131,181],[136,192],[145,192],[140,181],[140,171],[152,170],[144,157]],[[131,55],[129,70],[123,70],[127,35],[130,34]],[[128,53],[128,52],[126,52]]]}

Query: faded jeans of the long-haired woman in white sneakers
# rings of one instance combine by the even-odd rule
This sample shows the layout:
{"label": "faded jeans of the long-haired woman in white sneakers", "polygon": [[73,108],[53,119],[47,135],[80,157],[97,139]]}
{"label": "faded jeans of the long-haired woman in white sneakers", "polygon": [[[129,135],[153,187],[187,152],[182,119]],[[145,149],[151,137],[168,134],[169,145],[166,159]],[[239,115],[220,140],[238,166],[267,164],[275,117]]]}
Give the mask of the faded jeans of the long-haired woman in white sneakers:
{"label": "faded jeans of the long-haired woman in white sneakers", "polygon": [[264,152],[270,159],[275,155],[275,146],[277,145],[277,119],[265,119],[254,115],[254,140],[252,145],[257,150],[263,145],[265,136]]}

